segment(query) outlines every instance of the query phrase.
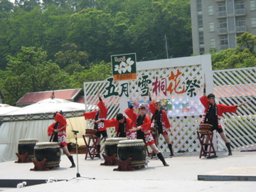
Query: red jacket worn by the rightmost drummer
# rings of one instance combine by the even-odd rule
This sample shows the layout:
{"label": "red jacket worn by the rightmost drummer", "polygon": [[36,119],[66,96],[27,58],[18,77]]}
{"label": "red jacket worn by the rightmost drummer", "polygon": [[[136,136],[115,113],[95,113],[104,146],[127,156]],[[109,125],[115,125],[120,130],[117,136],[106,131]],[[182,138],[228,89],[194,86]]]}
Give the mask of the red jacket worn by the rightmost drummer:
{"label": "red jacket worn by the rightmost drummer", "polygon": [[[205,119],[206,119],[206,112],[208,110],[208,107],[210,106],[210,102],[208,102],[208,97],[203,96],[200,97],[200,101],[203,104],[203,107],[206,107],[204,112],[203,112],[203,117],[200,122],[200,124],[203,124]],[[222,129],[220,125],[220,118],[223,116],[223,112],[236,112],[236,105],[223,105],[223,104],[216,104],[217,105],[217,114],[218,114],[218,128]]]}

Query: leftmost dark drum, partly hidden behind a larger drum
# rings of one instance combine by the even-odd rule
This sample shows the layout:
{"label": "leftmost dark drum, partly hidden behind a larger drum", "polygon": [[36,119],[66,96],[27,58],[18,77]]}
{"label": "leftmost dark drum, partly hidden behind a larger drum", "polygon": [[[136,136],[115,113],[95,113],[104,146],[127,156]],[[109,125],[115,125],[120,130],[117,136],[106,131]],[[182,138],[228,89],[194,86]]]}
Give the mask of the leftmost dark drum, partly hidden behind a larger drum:
{"label": "leftmost dark drum, partly hidden behind a larger drum", "polygon": [[23,155],[28,153],[27,159],[32,161],[34,159],[34,147],[36,143],[38,143],[38,139],[19,139],[18,154]]}

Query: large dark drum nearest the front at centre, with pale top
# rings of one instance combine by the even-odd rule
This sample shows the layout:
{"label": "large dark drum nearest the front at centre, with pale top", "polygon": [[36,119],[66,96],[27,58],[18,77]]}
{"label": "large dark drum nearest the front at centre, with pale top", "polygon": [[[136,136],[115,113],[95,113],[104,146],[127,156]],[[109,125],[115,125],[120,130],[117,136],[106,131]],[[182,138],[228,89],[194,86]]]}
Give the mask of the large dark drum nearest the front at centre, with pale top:
{"label": "large dark drum nearest the front at centre, with pale top", "polygon": [[146,146],[142,139],[120,141],[117,145],[117,157],[120,161],[132,160],[129,166],[134,169],[144,168],[146,162]]}

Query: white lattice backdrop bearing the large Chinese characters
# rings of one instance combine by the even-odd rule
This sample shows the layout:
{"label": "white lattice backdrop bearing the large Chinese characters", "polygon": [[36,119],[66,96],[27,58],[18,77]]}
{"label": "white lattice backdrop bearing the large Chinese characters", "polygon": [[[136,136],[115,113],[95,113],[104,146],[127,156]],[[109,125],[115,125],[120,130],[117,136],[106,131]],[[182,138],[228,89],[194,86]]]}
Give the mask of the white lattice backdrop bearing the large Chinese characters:
{"label": "white lattice backdrop bearing the large Chinese characters", "polygon": [[[211,72],[204,75],[210,71],[210,65],[209,55],[137,63],[137,80],[85,82],[85,102],[89,105],[97,105],[97,92],[105,95],[106,98],[103,100],[109,108],[107,119],[112,119],[115,114],[127,109],[128,101],[144,100],[147,102],[149,100],[147,87],[149,87],[153,100],[170,98],[183,100],[184,98],[198,97],[202,95],[201,87],[204,76],[207,76],[206,82],[213,81]],[[118,95],[109,95],[110,84],[114,85],[114,90],[118,92]],[[126,88],[124,89],[124,87]],[[126,94],[124,90],[127,91]],[[170,117],[171,132],[169,137],[173,143],[174,151],[200,150],[196,136],[200,119],[199,115]],[[113,128],[108,133],[109,137],[113,137]],[[167,144],[164,137],[161,136],[159,149],[164,151],[166,148]]]}

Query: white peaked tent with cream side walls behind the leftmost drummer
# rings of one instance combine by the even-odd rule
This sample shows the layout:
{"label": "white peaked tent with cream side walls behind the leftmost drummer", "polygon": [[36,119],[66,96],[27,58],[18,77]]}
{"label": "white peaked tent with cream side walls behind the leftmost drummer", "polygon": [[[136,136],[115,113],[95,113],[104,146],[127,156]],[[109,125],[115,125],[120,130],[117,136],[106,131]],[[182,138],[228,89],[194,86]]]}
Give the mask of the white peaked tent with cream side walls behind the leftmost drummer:
{"label": "white peaked tent with cream side walls behind the leftmost drummer", "polygon": [[[95,110],[97,106],[87,106],[87,109]],[[85,111],[85,105],[75,102],[69,102],[67,100],[60,99],[47,99],[37,102],[33,105],[22,107],[21,109],[13,112],[0,114],[0,117],[23,117],[21,121],[9,121],[1,124],[0,127],[0,162],[17,160],[16,153],[18,153],[18,140],[19,139],[38,139],[38,142],[48,142],[49,137],[47,135],[48,126],[54,122],[52,119],[53,114],[50,112],[80,112],[82,114]],[[48,113],[51,118],[38,119],[38,120],[26,120],[26,117],[30,114],[45,114]],[[75,142],[73,132],[70,130],[78,130],[78,144],[85,145],[82,140],[82,134],[85,134],[86,122],[84,117],[72,117],[67,119],[67,142]]]}

